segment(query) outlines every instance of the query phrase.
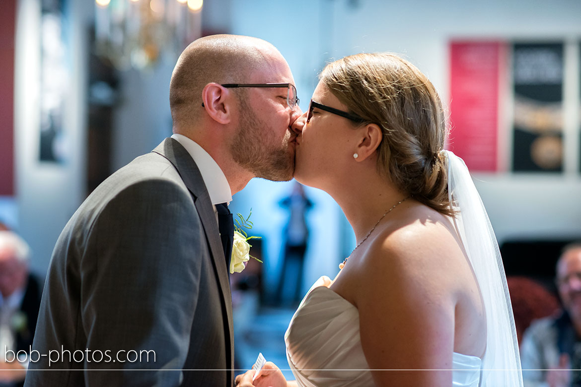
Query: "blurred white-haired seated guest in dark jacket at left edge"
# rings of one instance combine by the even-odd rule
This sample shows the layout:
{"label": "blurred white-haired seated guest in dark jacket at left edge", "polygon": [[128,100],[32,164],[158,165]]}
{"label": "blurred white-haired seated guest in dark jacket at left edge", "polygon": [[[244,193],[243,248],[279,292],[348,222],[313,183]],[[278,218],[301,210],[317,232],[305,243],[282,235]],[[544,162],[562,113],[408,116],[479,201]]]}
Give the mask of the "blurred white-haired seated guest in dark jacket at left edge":
{"label": "blurred white-haired seated guest in dark jacket at left edge", "polygon": [[0,231],[0,387],[23,385],[27,363],[15,360],[28,352],[40,306],[40,287],[28,273],[30,248],[11,231]]}

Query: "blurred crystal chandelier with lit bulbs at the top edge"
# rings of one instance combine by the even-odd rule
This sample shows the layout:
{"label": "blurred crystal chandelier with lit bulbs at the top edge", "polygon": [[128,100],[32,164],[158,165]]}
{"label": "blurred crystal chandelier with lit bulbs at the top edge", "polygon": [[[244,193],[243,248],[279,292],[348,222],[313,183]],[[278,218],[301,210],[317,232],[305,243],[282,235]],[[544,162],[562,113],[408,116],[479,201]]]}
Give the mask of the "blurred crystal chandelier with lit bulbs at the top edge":
{"label": "blurred crystal chandelier with lit bulbs at the top edge", "polygon": [[203,0],[95,0],[96,53],[120,70],[173,62],[201,35]]}

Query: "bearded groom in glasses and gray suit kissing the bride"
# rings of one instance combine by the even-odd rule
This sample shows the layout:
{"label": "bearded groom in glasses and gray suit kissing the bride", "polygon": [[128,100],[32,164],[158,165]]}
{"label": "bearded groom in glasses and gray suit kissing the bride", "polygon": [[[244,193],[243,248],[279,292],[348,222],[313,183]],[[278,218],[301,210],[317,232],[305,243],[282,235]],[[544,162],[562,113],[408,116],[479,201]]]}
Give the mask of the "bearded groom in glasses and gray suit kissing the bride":
{"label": "bearded groom in glasses and gray suit kissing the bride", "polygon": [[256,176],[292,178],[294,84],[261,39],[184,50],[174,135],[113,173],[60,234],[25,386],[232,386],[226,204]]}

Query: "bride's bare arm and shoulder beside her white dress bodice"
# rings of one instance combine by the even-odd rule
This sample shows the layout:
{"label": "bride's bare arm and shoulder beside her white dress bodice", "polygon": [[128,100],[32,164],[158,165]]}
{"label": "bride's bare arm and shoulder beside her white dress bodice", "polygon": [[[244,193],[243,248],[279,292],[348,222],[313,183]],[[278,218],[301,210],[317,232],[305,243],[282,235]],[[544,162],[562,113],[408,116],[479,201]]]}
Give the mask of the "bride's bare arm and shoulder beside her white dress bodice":
{"label": "bride's bare arm and shoulder beside her white dress bodice", "polygon": [[372,370],[398,370],[372,371],[378,386],[452,384],[454,270],[439,234],[406,227],[361,257],[355,301],[365,358]]}

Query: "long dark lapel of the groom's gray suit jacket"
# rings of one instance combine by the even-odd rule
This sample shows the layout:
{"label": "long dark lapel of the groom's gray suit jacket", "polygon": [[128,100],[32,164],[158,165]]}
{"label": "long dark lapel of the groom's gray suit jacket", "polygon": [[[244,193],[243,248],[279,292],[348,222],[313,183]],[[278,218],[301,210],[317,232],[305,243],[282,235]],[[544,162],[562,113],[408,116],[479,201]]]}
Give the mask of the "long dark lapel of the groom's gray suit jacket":
{"label": "long dark lapel of the groom's gray suit jacket", "polygon": [[194,204],[198,210],[200,220],[202,221],[202,227],[210,246],[210,255],[214,264],[218,283],[220,284],[225,306],[225,314],[228,318],[230,351],[229,353],[227,351],[227,359],[229,359],[228,363],[231,364],[231,368],[234,368],[234,359],[232,358],[234,352],[234,324],[232,323],[232,296],[228,279],[228,268],[225,265],[224,250],[220,241],[220,232],[218,232],[216,215],[214,214],[214,207],[211,203],[206,185],[196,163],[192,160],[188,151],[185,150],[177,140],[167,138],[153,151],[167,158],[167,160],[174,165],[178,173],[180,173],[182,180],[184,180],[185,185],[188,187],[188,190],[194,197]]}

